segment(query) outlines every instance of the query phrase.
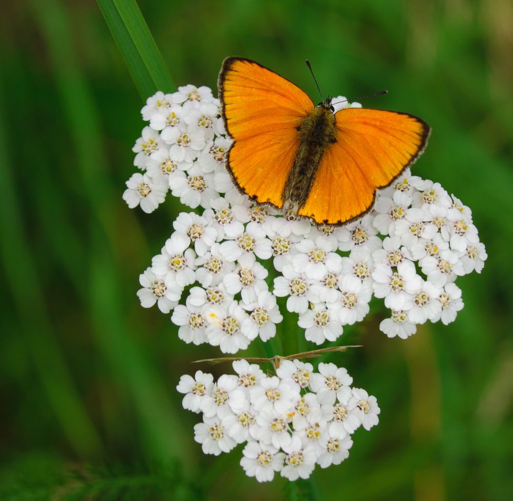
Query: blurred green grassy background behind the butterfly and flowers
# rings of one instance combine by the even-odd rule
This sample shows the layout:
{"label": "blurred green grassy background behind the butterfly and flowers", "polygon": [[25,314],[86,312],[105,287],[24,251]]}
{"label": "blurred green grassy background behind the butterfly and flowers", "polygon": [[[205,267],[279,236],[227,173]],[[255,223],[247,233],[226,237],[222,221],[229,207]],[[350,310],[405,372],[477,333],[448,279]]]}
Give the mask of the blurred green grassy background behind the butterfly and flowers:
{"label": "blurred green grassy background behind the butterfly and flowers", "polygon": [[[241,55],[314,101],[305,58],[325,94],[388,89],[364,105],[432,126],[413,172],[469,205],[487,246],[483,273],[458,280],[450,326],[390,340],[376,304],[346,330],[364,348],[329,359],[377,396],[380,425],[293,496],[512,499],[511,3],[140,7],[177,85],[215,88],[224,57]],[[245,477],[240,448],[202,454],[175,386],[219,351],[185,345],[135,296],[180,206],[168,195],[146,215],[121,199],[143,103],[96,3],[4,3],[0,26],[0,499],[283,499],[281,478]]]}

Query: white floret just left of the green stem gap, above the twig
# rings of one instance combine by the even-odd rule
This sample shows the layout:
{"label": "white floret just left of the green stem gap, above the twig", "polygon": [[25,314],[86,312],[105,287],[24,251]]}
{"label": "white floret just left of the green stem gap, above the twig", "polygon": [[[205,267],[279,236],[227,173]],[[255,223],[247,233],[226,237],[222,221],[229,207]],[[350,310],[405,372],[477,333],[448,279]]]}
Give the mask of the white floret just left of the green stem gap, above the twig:
{"label": "white floret just left of the green stem gap, above the twig", "polygon": [[249,305],[243,303],[243,306],[251,312],[242,326],[249,339],[260,336],[265,342],[276,335],[276,324],[283,320],[283,316],[276,298],[269,291],[259,292],[255,302]]}

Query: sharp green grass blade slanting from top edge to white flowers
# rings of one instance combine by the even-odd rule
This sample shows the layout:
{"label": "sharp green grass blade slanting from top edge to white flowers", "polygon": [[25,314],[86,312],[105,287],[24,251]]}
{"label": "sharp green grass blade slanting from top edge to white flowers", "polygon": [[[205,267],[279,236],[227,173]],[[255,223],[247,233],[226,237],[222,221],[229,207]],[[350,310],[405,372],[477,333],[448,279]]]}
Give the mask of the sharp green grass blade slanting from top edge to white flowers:
{"label": "sharp green grass blade slanting from top edge to white flowers", "polygon": [[135,0],[97,0],[143,100],[157,90],[176,90]]}

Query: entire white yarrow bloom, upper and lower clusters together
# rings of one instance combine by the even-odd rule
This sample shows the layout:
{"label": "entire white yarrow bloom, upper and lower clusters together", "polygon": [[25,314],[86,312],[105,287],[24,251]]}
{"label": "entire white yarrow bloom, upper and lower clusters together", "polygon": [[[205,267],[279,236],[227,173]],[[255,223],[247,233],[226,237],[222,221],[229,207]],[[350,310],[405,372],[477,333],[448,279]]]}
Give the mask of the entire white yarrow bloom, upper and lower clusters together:
{"label": "entire white yarrow bloom, upper and lower clusters together", "polygon": [[[361,106],[333,101],[337,109]],[[273,338],[286,314],[320,345],[363,321],[373,297],[389,310],[380,330],[406,339],[417,325],[447,325],[463,309],[456,281],[481,273],[487,254],[470,208],[440,183],[405,169],[360,219],[319,225],[239,192],[225,166],[232,139],[208,87],[156,92],[141,113],[146,124],[132,148],[139,171],[123,199],[151,213],[171,191],[191,210],[174,220],[137,296],[170,314],[185,343],[239,353]],[[240,464],[259,482],[339,465],[356,430],[378,424],[376,397],[353,388],[333,363],[314,370],[273,360],[275,373],[236,360],[235,374],[217,380],[202,371],[182,376],[183,407],[202,414],[194,439],[212,455],[243,445]]]}

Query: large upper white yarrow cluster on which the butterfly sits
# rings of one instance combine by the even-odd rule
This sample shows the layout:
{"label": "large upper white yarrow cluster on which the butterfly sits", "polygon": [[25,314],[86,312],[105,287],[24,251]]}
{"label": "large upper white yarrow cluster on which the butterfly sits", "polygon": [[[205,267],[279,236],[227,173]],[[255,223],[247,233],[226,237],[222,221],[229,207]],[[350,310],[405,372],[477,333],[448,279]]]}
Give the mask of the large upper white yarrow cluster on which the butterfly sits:
{"label": "large upper white yarrow cluster on which the butterfly sits", "polygon": [[[389,337],[407,338],[428,320],[448,324],[462,309],[456,278],[480,273],[487,255],[470,209],[439,183],[407,170],[361,220],[319,226],[239,194],[225,169],[231,140],[209,88],[157,92],[142,114],[149,126],[133,150],[146,172],[127,182],[128,205],[149,212],[171,189],[203,209],[177,217],[137,293],[144,307],[174,309],[185,342],[236,353],[258,336],[266,341],[282,320],[277,296],[316,344],[363,320],[372,296],[390,310],[380,324]],[[280,274],[272,290],[264,260]]]}

